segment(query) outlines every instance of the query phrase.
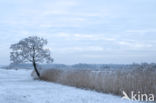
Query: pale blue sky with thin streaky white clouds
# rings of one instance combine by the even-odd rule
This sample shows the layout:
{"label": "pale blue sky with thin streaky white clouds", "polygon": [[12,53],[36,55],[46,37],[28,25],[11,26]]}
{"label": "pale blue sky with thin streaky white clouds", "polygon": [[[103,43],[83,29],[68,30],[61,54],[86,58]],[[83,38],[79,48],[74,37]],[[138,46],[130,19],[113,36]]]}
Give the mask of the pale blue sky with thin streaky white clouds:
{"label": "pale blue sky with thin streaky white clouds", "polygon": [[54,63],[156,62],[156,0],[0,0],[0,64],[28,36]]}

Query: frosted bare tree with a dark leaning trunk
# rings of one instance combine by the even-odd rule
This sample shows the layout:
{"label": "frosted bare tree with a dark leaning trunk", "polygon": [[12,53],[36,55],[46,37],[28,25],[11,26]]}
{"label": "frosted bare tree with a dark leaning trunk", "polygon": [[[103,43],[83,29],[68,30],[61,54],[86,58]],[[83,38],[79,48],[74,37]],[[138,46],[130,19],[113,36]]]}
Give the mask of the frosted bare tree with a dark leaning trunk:
{"label": "frosted bare tree with a dark leaning trunk", "polygon": [[45,45],[47,45],[47,40],[37,36],[30,36],[20,40],[10,46],[10,49],[12,49],[10,60],[15,64],[32,63],[37,76],[40,78],[36,64],[53,62],[50,50],[45,49]]}

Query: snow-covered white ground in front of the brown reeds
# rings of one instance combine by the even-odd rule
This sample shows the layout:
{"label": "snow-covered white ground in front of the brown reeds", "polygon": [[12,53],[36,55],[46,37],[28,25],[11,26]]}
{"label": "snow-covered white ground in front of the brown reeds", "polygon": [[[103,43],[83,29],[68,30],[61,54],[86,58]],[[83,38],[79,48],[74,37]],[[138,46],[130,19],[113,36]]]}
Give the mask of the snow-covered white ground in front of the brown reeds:
{"label": "snow-covered white ground in front of the brown reeds", "polygon": [[0,103],[132,103],[109,94],[33,80],[30,74],[31,70],[0,69]]}

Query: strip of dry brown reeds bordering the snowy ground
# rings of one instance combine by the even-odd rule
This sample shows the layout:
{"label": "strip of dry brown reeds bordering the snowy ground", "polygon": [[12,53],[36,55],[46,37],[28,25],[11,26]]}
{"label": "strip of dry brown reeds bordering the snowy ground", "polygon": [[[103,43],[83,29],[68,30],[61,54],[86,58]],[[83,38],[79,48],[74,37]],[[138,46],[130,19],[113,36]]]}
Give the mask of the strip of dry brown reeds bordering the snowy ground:
{"label": "strip of dry brown reeds bordering the snowy ground", "polygon": [[153,70],[91,71],[48,69],[41,79],[65,85],[122,95],[131,91],[156,95],[156,72]]}

